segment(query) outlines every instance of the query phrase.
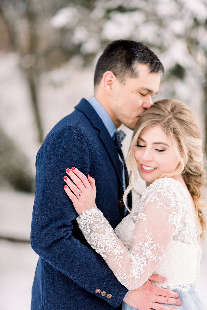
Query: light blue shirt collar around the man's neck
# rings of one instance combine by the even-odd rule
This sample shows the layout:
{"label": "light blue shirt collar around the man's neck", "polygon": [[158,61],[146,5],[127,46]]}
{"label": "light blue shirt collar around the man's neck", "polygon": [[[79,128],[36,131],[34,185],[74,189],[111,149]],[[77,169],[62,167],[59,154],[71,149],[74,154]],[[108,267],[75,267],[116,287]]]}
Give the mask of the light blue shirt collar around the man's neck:
{"label": "light blue shirt collar around the man's neck", "polygon": [[103,108],[103,105],[94,97],[91,96],[88,102],[92,105],[95,109],[96,113],[101,118],[103,124],[105,125],[106,129],[108,130],[111,137],[113,137],[115,131],[117,130],[114,122],[112,121],[111,117],[109,116],[108,112]]}

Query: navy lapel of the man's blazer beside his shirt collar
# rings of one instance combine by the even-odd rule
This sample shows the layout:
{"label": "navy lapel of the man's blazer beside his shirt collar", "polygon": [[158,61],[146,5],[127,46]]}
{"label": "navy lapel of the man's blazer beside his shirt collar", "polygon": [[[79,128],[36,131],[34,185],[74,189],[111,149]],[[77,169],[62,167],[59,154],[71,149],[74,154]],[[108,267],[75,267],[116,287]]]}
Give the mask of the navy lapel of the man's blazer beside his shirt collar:
{"label": "navy lapel of the man's blazer beside his shirt collar", "polygon": [[120,183],[123,184],[121,165],[117,149],[112,137],[110,136],[108,130],[103,124],[101,118],[86,99],[82,99],[75,108],[81,111],[88,118],[91,125],[99,131],[99,139],[102,142],[104,148],[106,149],[106,152],[108,153],[108,156],[116,170]]}

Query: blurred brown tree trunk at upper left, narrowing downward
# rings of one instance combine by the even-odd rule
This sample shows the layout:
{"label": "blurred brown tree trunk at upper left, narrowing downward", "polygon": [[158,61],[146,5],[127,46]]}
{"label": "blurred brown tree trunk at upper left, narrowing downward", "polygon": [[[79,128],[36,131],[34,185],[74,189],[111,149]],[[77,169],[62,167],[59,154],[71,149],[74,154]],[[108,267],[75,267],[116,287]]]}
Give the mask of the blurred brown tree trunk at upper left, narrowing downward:
{"label": "blurred brown tree trunk at upper left, narrowing downward", "polygon": [[[21,2],[21,1],[20,1]],[[22,2],[23,4],[23,2]],[[11,47],[21,56],[21,69],[25,73],[26,81],[28,83],[31,102],[33,106],[34,116],[37,125],[38,140],[43,141],[42,124],[40,118],[40,111],[38,106],[38,78],[39,72],[37,70],[38,57],[36,51],[36,12],[31,6],[31,1],[24,2],[24,10],[20,3],[16,1],[4,1],[0,14],[5,23],[10,38]],[[22,25],[21,25],[22,22]],[[20,27],[22,26],[22,27]],[[26,38],[21,38],[20,31],[24,29]],[[20,29],[19,29],[20,27]],[[23,36],[24,36],[23,35]],[[22,37],[23,37],[22,36]]]}

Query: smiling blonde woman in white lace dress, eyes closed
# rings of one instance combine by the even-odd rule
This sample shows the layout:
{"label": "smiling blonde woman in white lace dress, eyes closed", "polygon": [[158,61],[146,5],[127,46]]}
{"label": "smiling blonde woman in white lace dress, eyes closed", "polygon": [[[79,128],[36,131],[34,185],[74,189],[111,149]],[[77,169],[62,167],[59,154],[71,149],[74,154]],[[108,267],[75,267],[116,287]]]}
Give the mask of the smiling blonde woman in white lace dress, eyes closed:
{"label": "smiling blonde woman in white lace dress, eyes closed", "polygon": [[[200,130],[191,111],[177,100],[166,99],[147,109],[134,130],[124,201],[136,183],[137,170],[147,188],[115,232],[95,206],[94,179],[87,180],[76,168],[67,172],[75,184],[64,179],[65,192],[79,214],[79,227],[117,279],[134,290],[152,273],[165,276],[167,282],[155,284],[178,291],[183,302],[180,310],[206,309],[194,291],[200,236],[205,234],[202,157]],[[134,308],[123,303],[122,309]]]}

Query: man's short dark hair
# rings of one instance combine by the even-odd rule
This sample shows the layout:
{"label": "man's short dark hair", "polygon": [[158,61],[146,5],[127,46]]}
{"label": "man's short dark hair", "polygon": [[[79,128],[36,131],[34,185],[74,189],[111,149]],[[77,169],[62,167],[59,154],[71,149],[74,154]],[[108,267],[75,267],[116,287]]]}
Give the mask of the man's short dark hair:
{"label": "man's short dark hair", "polygon": [[98,59],[94,74],[94,86],[101,81],[106,71],[112,71],[120,82],[126,77],[137,78],[136,64],[147,64],[152,72],[164,73],[158,57],[140,42],[116,40],[107,45]]}

